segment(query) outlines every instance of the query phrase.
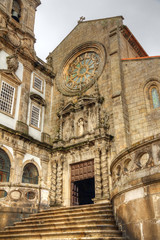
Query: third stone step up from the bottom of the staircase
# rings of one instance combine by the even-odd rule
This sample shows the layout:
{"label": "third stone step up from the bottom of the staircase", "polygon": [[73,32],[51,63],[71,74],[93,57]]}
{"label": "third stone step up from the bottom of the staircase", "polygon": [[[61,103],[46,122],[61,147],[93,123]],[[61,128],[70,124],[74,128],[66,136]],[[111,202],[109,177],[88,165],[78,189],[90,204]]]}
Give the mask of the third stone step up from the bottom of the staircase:
{"label": "third stone step up from the bottom of the staircase", "polygon": [[[62,225],[65,225],[65,226],[72,226],[72,225],[75,225],[77,224],[75,221],[73,220],[65,220],[65,221],[60,221],[60,222],[57,222],[56,219],[54,220],[51,220],[51,221],[48,221],[48,222],[28,222],[27,224],[25,222],[20,222],[20,223],[15,223],[14,226],[9,226],[9,227],[6,227],[5,229],[6,230],[9,230],[9,229],[20,229],[20,228],[25,228],[25,227],[30,227],[30,228],[34,228],[34,227],[47,227],[47,226],[62,226]],[[81,219],[78,221],[78,224],[80,225],[87,225],[87,226],[96,226],[97,224],[100,225],[104,225],[104,224],[110,224],[110,225],[115,225],[115,221],[114,219],[110,220],[110,219],[91,219],[91,220],[84,220],[84,219]]]}

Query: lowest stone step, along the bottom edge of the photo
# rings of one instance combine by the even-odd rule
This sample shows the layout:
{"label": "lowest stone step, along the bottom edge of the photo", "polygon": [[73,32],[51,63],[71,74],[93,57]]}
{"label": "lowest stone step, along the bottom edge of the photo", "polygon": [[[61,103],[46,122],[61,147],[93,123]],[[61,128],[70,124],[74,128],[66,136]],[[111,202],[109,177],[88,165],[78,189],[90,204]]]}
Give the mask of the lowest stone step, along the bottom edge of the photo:
{"label": "lowest stone step, along the bottom edge of the photo", "polygon": [[[0,235],[0,239],[14,239],[14,240],[51,240],[51,239],[63,239],[63,238],[78,238],[82,239],[83,237],[88,237],[88,239],[93,238],[104,238],[104,237],[121,237],[121,232],[118,230],[87,230],[87,231],[75,231],[75,232],[49,232],[49,233],[35,233],[34,231],[31,233],[18,233],[18,234],[4,234]],[[112,239],[111,238],[111,239]],[[123,238],[120,238],[123,239]]]}

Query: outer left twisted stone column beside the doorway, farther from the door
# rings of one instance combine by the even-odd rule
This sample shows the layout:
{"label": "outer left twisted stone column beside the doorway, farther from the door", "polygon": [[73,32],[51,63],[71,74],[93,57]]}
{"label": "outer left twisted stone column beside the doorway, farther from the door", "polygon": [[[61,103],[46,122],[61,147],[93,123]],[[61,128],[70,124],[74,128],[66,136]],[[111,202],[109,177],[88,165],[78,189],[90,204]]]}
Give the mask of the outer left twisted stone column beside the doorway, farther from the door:
{"label": "outer left twisted stone column beside the doorway, farther from the door", "polygon": [[57,186],[57,161],[51,163],[51,188],[50,188],[50,205],[56,203],[56,186]]}

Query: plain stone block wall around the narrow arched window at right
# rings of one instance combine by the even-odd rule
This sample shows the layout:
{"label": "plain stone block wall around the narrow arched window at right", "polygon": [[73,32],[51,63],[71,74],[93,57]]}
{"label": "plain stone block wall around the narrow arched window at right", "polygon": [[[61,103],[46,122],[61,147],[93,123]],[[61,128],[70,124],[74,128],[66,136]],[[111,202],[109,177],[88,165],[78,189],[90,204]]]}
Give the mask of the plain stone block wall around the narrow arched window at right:
{"label": "plain stone block wall around the narrow arched window at right", "polygon": [[123,61],[131,144],[159,133],[159,108],[152,106],[150,84],[159,88],[160,58]]}

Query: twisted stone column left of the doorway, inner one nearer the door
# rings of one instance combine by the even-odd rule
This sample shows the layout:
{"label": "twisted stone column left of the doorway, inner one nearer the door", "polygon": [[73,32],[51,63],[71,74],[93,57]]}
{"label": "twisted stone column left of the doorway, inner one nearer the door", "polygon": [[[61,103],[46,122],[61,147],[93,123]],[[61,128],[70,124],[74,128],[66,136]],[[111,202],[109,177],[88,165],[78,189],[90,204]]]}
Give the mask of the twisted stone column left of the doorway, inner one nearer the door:
{"label": "twisted stone column left of the doorway, inner one nearer the door", "polygon": [[63,159],[58,160],[57,166],[57,189],[56,189],[56,204],[61,205],[63,202]]}

